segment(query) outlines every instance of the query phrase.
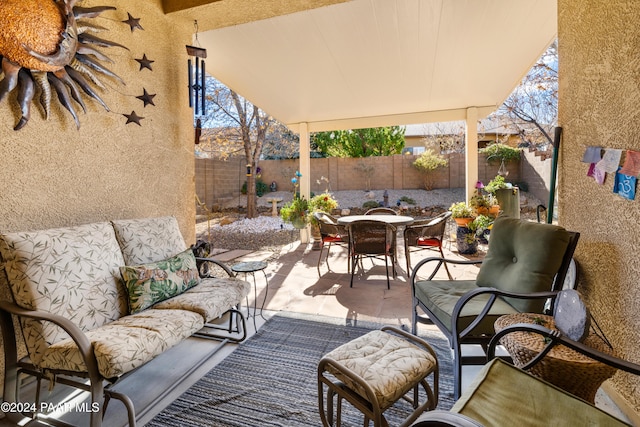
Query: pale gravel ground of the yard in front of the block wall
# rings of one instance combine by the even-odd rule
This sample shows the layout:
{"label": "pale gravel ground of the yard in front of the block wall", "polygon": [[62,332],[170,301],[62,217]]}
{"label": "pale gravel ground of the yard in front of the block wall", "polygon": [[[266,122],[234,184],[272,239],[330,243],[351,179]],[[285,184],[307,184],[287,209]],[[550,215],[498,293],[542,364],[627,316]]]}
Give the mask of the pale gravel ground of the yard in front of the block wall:
{"label": "pale gravel ground of the yard in front of the block wall", "polygon": [[[383,200],[384,190],[365,191],[334,191],[332,192],[338,201],[340,209],[359,210],[362,204],[368,200]],[[434,211],[443,211],[449,208],[452,203],[464,199],[464,189],[437,189],[426,190],[388,190],[389,204],[395,206],[402,198],[410,198],[415,201],[415,205],[401,203],[411,208],[410,215],[414,217],[429,217]],[[275,253],[280,252],[283,245],[289,244],[300,237],[298,230],[290,224],[283,223],[280,217],[271,216],[271,202],[267,199],[272,197],[281,198],[278,203],[281,207],[292,198],[289,191],[276,191],[267,193],[258,198],[258,208],[261,215],[258,218],[246,219],[242,211],[246,207],[246,196],[239,196],[226,203],[222,212],[214,212],[209,223],[206,216],[198,217],[196,224],[196,235],[198,239],[213,242],[214,248],[224,249],[248,249],[248,250],[270,250]],[[535,217],[535,207],[540,203],[527,193],[521,192],[522,215]],[[532,213],[533,212],[533,213]]]}

